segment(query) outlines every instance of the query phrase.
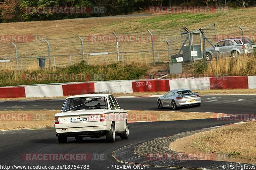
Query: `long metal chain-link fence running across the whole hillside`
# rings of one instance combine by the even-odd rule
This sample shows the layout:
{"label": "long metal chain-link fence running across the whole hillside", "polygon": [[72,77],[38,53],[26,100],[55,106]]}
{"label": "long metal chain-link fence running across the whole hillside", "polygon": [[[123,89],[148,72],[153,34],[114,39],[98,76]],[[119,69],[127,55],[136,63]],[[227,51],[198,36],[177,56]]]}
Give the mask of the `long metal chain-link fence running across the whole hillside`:
{"label": "long metal chain-link fence running across the whole hillside", "polygon": [[[217,42],[223,39],[249,38],[256,42],[254,26],[229,26],[217,28],[213,23],[202,29],[147,30],[132,33],[108,33],[103,35],[76,36],[58,39],[41,39],[26,42],[0,44],[0,69],[34,69],[44,58],[45,67],[66,67],[84,60],[88,65],[115,62],[172,63],[183,57],[192,62],[208,57],[224,57]],[[167,42],[167,46],[166,46]],[[243,48],[240,47],[237,48]],[[256,45],[252,45],[253,47]],[[241,49],[245,51],[246,46]],[[247,47],[248,48],[248,47]],[[240,51],[241,51],[240,50]],[[205,57],[204,57],[205,56]]]}

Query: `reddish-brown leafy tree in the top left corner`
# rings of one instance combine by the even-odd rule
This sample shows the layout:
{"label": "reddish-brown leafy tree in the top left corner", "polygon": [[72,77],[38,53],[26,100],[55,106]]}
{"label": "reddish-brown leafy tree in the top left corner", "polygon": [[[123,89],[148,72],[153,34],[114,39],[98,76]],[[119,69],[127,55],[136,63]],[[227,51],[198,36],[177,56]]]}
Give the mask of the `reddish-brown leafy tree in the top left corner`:
{"label": "reddish-brown leafy tree in the top left corner", "polygon": [[20,1],[4,0],[0,2],[0,11],[3,22],[21,22],[23,20]]}

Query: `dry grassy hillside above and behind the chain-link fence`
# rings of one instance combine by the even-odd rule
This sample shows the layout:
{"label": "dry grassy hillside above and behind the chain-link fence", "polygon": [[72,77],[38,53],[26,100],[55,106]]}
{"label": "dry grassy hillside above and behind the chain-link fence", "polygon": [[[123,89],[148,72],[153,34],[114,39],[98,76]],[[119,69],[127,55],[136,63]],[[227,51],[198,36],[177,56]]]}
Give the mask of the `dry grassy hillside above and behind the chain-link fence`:
{"label": "dry grassy hillside above and behind the chain-link fence", "polygon": [[[237,15],[239,13],[239,15]],[[246,9],[236,9],[230,10],[228,12],[205,14],[205,16],[217,16],[212,17],[212,19],[207,18],[174,18],[174,19],[161,19],[166,15],[151,15],[151,16],[137,16],[137,17],[110,17],[110,18],[78,18],[78,19],[66,19],[66,20],[56,20],[56,21],[38,21],[38,22],[21,22],[21,23],[2,23],[0,25],[0,30],[2,35],[32,35],[32,36],[44,36],[46,39],[55,39],[55,38],[65,38],[65,37],[74,37],[72,41],[68,42],[65,40],[49,40],[51,57],[53,61],[53,55],[66,55],[66,56],[56,56],[56,66],[63,67],[69,64],[69,55],[68,54],[81,54],[81,45],[77,35],[80,36],[90,36],[90,35],[101,35],[101,34],[112,34],[115,33],[131,33],[131,32],[140,32],[142,34],[147,34],[146,30],[173,30],[187,26],[189,30],[197,30],[199,27],[207,26],[216,23],[218,28],[226,26],[236,26],[237,25],[254,25],[256,17],[255,8],[246,8]],[[171,14],[174,17],[181,14]],[[170,15],[170,16],[171,16]],[[157,18],[157,17],[160,17]],[[152,19],[154,22],[145,22],[146,19]],[[195,20],[193,20],[195,19]],[[213,21],[214,19],[214,21]],[[236,22],[233,22],[233,21]],[[171,21],[171,22],[170,22]],[[86,23],[86,24],[85,24]],[[19,29],[17,29],[19,28]],[[238,28],[238,27],[237,27]],[[174,38],[180,35],[179,31],[175,35],[169,35],[169,38]],[[86,38],[84,38],[84,41]],[[17,43],[18,47],[18,56],[40,56],[48,55],[47,46],[45,42],[29,42],[29,47],[25,47],[24,43],[21,45]],[[4,46],[6,45],[3,44]],[[72,48],[70,48],[72,46]],[[165,49],[167,50],[166,42],[159,42],[154,44],[155,49]],[[6,51],[4,50],[2,44],[2,54],[3,57],[15,57],[14,47],[12,45],[6,45]],[[93,44],[86,41],[84,43],[84,52],[89,53],[91,49],[99,48],[108,48],[108,52],[116,52],[116,45],[114,42]],[[150,42],[147,43],[121,43],[120,42],[120,52],[122,51],[138,51],[138,50],[151,50]],[[129,60],[138,60],[138,53],[124,53],[124,61],[129,62]],[[155,53],[157,55],[157,53]],[[168,61],[168,52],[163,51],[159,52],[161,62]],[[85,56],[86,58],[87,56]],[[122,54],[120,53],[120,58]],[[157,57],[156,57],[157,58]],[[82,56],[72,56],[72,63],[81,61]],[[28,59],[23,58],[23,67],[28,67],[26,63],[36,63],[36,57]],[[116,61],[116,54],[109,54],[106,58],[106,62]],[[151,51],[141,54],[141,62],[147,61],[152,63],[152,53]],[[157,59],[156,59],[157,61]],[[103,56],[89,57],[89,63],[104,63]],[[3,63],[0,63],[2,65]],[[16,68],[16,61],[12,59],[12,66],[10,68]],[[53,65],[53,62],[52,62]],[[9,66],[8,66],[9,67]],[[48,67],[48,59],[46,62],[46,67]]]}

